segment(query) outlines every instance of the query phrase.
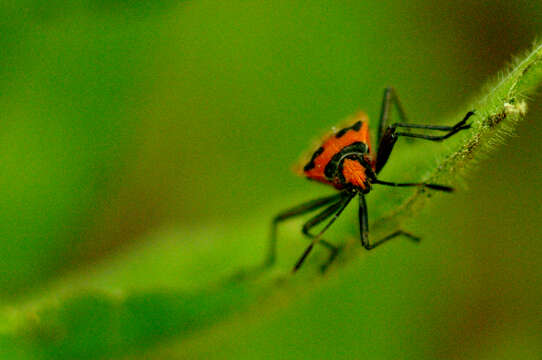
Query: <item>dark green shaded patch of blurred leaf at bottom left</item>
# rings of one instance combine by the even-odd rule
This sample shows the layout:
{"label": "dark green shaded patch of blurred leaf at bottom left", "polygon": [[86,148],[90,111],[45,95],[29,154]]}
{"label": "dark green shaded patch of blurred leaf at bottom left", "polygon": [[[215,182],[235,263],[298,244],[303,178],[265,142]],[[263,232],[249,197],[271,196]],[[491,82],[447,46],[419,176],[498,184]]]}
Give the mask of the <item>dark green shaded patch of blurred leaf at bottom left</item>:
{"label": "dark green shaded patch of blurred leaf at bottom left", "polygon": [[5,358],[97,359],[129,355],[216,323],[250,298],[242,284],[216,291],[155,291],[125,299],[88,293],[36,314],[33,325],[0,337]]}

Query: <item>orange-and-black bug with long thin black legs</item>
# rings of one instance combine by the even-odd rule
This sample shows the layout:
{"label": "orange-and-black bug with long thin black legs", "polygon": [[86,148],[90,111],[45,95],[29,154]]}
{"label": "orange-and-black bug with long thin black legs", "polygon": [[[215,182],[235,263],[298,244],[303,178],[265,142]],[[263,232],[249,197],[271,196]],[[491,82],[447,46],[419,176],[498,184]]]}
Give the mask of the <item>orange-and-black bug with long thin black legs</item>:
{"label": "orange-and-black bug with long thin black legs", "polygon": [[[401,122],[388,125],[391,106],[394,105]],[[315,180],[324,184],[331,185],[339,190],[338,193],[314,199],[298,206],[289,208],[273,218],[271,226],[271,237],[269,252],[264,267],[274,264],[276,259],[277,227],[290,218],[300,216],[325,207],[323,211],[308,220],[302,228],[302,232],[307,236],[311,243],[303,252],[299,260],[295,263],[293,272],[297,271],[314,245],[319,243],[330,251],[330,257],[325,268],[333,261],[338,253],[338,247],[322,239],[322,234],[337,220],[350,201],[358,196],[359,198],[359,227],[361,245],[371,250],[384,242],[397,236],[403,235],[413,241],[419,241],[419,238],[405,231],[398,230],[394,233],[380,239],[374,243],[369,241],[369,222],[367,218],[367,204],[365,195],[371,191],[372,185],[396,186],[396,187],[425,187],[433,190],[451,192],[453,189],[445,185],[417,183],[395,183],[380,180],[378,174],[388,162],[390,154],[397,140],[400,137],[418,138],[430,141],[441,141],[458,133],[461,130],[470,128],[467,120],[474,114],[469,111],[463,120],[453,126],[441,125],[422,125],[409,124],[405,112],[399,102],[396,92],[393,88],[386,88],[380,121],[378,125],[378,146],[373,150],[370,146],[368,117],[360,112],[354,117],[349,126],[346,126],[328,137],[324,138],[321,146],[312,154],[310,160],[303,167],[302,174],[310,180]],[[412,133],[411,129],[424,129],[442,132],[442,135],[426,135],[422,133]],[[318,224],[328,220],[325,226],[316,234],[311,232]]]}

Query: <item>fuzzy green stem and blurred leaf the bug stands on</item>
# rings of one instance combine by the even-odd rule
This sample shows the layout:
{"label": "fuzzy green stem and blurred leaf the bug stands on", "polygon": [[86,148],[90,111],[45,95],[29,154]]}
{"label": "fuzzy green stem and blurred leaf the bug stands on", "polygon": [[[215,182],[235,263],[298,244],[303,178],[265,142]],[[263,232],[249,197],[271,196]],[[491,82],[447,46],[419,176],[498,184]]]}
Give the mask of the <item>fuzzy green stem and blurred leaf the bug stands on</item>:
{"label": "fuzzy green stem and blurred leaf the bug stands on", "polygon": [[[525,117],[529,95],[541,83],[539,45],[487,86],[479,100],[442,121],[455,123],[475,109],[471,130],[442,144],[398,145],[408,151],[396,151],[382,177],[461,184],[465,170],[501,143]],[[432,155],[424,156],[428,152]],[[372,234],[390,231],[413,217],[429,195],[427,190],[375,191],[369,199]],[[284,239],[276,267],[256,278],[231,277],[263,259],[271,213],[227,225],[166,229],[115,258],[81,268],[46,289],[4,304],[0,356],[94,359],[126,355],[168,340],[182,342],[234,313],[255,307],[276,309],[304,292],[316,291],[328,279],[318,271],[325,254],[315,252],[302,271],[290,275],[305,244],[298,240],[295,222],[281,230]],[[354,238],[355,229],[352,222],[340,231]],[[330,273],[346,272],[344,265],[357,261],[359,246],[351,243],[347,242],[349,249]]]}

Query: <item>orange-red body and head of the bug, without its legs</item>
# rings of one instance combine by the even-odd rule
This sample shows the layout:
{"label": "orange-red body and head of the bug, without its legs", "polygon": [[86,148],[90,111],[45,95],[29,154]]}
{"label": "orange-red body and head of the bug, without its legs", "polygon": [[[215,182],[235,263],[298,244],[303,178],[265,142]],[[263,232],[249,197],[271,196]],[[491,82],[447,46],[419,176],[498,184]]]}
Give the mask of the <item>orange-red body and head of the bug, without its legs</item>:
{"label": "orange-red body and head of the bug, without its legs", "polygon": [[[326,184],[334,185],[337,188],[344,187],[344,183],[335,181],[329,173],[326,174],[326,167],[329,170],[329,164],[337,154],[340,154],[349,146],[364,144],[367,153],[370,153],[369,123],[368,117],[364,112],[356,114],[351,121],[350,126],[344,127],[337,132],[326,137],[322,145],[312,154],[310,161],[305,165],[303,174],[309,179],[320,181]],[[372,164],[372,162],[371,162]],[[344,180],[354,186],[362,187],[364,183],[365,172],[356,175],[356,172],[362,170],[361,165],[355,165],[353,162],[347,162],[343,167]],[[362,181],[363,180],[363,181]]]}

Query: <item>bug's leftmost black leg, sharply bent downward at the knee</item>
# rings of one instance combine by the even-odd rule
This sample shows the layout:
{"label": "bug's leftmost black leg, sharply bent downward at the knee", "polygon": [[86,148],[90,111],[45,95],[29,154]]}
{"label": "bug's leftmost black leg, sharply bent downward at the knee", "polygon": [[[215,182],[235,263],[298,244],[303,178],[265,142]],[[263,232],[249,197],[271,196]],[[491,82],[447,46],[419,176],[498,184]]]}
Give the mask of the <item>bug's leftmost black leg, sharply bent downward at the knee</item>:
{"label": "bug's leftmost black leg, sharply bent downward at the knee", "polygon": [[337,202],[341,199],[342,196],[343,195],[339,193],[339,194],[334,194],[331,196],[326,196],[324,198],[311,200],[277,214],[273,218],[273,221],[271,223],[271,236],[269,239],[269,250],[267,252],[267,258],[264,262],[264,267],[270,267],[271,265],[275,263],[276,253],[277,253],[277,227],[279,223],[281,223],[284,220],[287,220],[296,216],[301,216],[303,214],[317,210],[330,203]]}

